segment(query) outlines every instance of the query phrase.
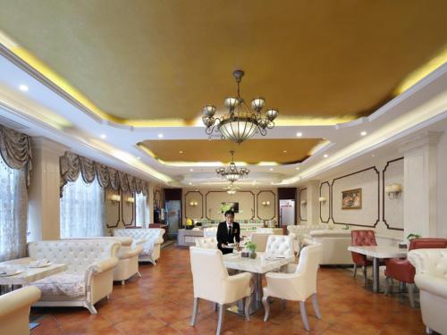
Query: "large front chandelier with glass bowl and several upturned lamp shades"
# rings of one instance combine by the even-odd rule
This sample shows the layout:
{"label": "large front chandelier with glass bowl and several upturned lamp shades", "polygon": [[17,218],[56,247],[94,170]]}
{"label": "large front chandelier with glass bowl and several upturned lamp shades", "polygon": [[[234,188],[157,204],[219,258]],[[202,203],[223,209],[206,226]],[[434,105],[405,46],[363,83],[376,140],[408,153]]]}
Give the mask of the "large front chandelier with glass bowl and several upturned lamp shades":
{"label": "large front chandelier with glass bowl and several upturned lamp shades", "polygon": [[263,97],[256,97],[251,101],[251,108],[240,96],[240,80],[244,71],[236,70],[232,72],[238,85],[236,97],[227,97],[224,105],[229,109],[229,113],[221,118],[215,117],[215,106],[206,105],[203,109],[202,121],[207,127],[205,132],[211,136],[215,127],[222,135],[222,138],[231,139],[240,144],[251,138],[256,133],[266,136],[267,129],[274,128],[274,119],[278,116],[278,111],[268,109],[266,113],[261,113],[265,100]]}

